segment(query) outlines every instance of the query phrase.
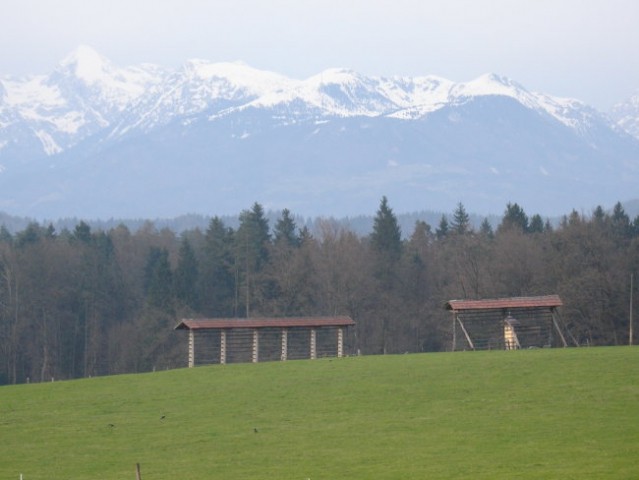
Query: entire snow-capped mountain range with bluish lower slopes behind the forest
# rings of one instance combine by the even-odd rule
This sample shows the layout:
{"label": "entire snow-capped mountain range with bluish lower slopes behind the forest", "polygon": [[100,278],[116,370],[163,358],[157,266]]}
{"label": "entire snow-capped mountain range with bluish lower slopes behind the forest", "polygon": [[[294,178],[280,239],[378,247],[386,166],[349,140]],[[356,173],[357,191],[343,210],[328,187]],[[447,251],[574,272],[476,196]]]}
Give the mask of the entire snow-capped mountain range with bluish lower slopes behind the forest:
{"label": "entire snow-capped mountain range with bluish lower slopes behind the forest", "polygon": [[118,67],[79,47],[0,76],[0,210],[36,218],[590,212],[639,198],[639,95],[603,113],[487,74],[305,80],[242,63]]}

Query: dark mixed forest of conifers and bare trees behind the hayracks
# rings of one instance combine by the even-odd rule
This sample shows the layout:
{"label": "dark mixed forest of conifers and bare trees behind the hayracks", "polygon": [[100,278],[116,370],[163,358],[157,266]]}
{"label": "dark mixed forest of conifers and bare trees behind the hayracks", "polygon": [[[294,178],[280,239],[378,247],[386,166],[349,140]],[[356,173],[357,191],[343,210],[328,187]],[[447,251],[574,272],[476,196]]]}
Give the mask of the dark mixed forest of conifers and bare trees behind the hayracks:
{"label": "dark mixed forest of conifers and bare trees behind the hayracks", "polygon": [[639,216],[620,203],[557,226],[508,204],[494,229],[458,204],[404,235],[385,197],[364,236],[288,210],[270,225],[259,203],[236,228],[179,235],[0,227],[0,384],[184,366],[181,318],[350,315],[351,353],[443,351],[458,298],[557,293],[581,344],[627,344],[638,267]]}

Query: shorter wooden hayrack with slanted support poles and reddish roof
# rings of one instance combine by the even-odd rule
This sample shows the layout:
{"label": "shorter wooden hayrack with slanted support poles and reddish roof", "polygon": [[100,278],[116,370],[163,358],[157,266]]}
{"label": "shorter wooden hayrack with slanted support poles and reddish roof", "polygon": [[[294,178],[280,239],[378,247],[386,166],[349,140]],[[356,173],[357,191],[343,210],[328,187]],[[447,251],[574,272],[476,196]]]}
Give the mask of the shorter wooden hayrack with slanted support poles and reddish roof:
{"label": "shorter wooden hayrack with slanted support poles and reddish roof", "polygon": [[449,300],[452,350],[566,347],[561,305],[559,295]]}

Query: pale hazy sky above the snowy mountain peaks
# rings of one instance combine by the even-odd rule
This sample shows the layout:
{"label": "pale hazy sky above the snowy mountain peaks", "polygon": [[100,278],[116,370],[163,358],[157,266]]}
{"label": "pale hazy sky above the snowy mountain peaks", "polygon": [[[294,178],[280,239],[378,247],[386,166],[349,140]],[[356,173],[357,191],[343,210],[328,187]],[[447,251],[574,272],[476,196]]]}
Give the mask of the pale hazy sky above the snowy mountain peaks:
{"label": "pale hazy sky above the snowy mountain peaks", "polygon": [[637,0],[2,0],[0,75],[78,45],[117,65],[242,60],[294,78],[492,72],[602,110],[639,90]]}

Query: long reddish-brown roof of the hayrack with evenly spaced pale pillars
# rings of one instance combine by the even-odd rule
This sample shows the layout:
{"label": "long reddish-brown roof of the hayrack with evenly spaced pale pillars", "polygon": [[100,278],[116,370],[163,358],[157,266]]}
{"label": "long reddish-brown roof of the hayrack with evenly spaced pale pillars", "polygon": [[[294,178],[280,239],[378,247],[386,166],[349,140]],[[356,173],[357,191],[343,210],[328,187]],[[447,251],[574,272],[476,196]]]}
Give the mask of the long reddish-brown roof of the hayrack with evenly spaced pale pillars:
{"label": "long reddish-brown roof of the hayrack with evenly spaced pale pillars", "polygon": [[348,327],[355,325],[351,317],[256,317],[183,319],[175,330],[206,330],[222,328],[293,328]]}

